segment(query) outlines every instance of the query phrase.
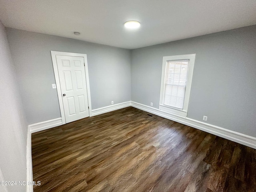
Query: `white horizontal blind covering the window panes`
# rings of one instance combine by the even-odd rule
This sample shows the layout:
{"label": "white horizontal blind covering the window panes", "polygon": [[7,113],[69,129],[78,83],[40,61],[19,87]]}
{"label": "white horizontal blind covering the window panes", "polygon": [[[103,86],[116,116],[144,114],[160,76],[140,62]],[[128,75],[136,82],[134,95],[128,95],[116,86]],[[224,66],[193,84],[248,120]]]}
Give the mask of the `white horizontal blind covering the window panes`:
{"label": "white horizontal blind covering the window panes", "polygon": [[183,109],[189,59],[166,62],[164,105]]}

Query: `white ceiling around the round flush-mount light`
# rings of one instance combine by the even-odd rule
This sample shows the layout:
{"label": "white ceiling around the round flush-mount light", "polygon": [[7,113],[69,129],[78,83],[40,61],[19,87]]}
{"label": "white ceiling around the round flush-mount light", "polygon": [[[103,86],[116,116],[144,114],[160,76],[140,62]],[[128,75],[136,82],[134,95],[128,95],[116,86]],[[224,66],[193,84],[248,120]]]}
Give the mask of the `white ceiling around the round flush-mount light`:
{"label": "white ceiling around the round flush-mount light", "polygon": [[[0,20],[6,27],[134,49],[254,25],[256,0],[0,0]],[[127,30],[127,20],[141,27]]]}

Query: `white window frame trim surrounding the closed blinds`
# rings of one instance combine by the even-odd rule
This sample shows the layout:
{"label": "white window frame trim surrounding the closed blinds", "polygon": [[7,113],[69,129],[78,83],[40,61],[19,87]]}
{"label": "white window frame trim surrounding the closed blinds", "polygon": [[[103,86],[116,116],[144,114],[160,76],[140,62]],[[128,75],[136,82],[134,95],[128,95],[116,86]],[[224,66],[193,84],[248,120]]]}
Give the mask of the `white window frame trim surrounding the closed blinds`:
{"label": "white window frame trim surrounding the closed blinds", "polygon": [[[163,57],[159,110],[170,113],[170,114],[187,117],[195,58],[196,58],[196,54],[174,55],[174,56]],[[183,109],[175,108],[172,106],[166,106],[164,105],[164,87],[165,87],[165,79],[166,79],[167,61],[186,60],[186,59],[189,60],[189,64],[188,64],[188,76],[187,76],[187,83],[186,83],[186,89],[185,89]]]}

